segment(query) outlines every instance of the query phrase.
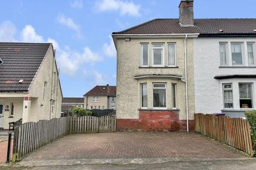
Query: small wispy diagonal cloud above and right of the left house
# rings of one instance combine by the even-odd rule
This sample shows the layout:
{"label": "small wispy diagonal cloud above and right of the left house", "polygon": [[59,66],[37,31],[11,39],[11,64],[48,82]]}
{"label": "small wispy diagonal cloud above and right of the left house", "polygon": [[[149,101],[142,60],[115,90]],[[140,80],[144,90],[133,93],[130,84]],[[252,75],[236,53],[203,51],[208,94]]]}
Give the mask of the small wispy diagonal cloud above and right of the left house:
{"label": "small wispy diagonal cloud above and right of the left house", "polygon": [[76,32],[76,36],[78,38],[81,38],[81,32],[80,32],[80,26],[76,24],[73,19],[71,18],[66,18],[63,14],[59,14],[57,16],[57,20],[60,24],[65,25],[71,30],[74,30]]}

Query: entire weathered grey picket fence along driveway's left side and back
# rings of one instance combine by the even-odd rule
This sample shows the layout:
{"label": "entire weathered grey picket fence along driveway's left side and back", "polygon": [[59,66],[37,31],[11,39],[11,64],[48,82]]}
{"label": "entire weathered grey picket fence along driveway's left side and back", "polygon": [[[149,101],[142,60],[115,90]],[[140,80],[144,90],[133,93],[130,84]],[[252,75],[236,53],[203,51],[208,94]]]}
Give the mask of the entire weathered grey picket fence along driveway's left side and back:
{"label": "entire weathered grey picket fence along driveway's left side and back", "polygon": [[28,122],[14,127],[13,157],[16,162],[30,152],[71,133],[102,133],[116,131],[115,116],[61,117]]}

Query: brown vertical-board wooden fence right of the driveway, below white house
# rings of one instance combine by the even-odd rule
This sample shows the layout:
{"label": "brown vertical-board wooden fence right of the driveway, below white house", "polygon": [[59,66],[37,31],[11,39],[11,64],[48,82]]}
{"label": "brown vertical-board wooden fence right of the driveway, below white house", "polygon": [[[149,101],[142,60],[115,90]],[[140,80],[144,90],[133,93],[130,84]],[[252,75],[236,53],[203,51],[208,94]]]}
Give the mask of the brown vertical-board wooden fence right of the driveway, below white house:
{"label": "brown vertical-board wooden fence right of the driveway, below white house", "polygon": [[195,131],[253,155],[250,125],[243,118],[195,114]]}

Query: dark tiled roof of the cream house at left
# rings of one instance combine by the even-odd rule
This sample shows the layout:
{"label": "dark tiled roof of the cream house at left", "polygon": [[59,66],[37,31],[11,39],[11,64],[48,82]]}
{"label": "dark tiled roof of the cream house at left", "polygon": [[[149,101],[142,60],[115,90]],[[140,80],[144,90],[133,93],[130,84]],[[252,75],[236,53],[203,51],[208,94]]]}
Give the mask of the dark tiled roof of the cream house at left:
{"label": "dark tiled roof of the cream house at left", "polygon": [[0,91],[28,91],[50,46],[50,43],[0,43],[3,61]]}

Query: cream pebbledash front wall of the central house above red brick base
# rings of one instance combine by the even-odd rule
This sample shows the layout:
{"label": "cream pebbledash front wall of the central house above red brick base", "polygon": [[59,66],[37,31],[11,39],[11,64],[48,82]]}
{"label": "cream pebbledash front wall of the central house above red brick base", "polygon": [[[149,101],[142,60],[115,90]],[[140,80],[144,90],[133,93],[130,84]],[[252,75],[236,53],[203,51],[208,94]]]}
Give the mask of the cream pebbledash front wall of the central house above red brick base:
{"label": "cream pebbledash front wall of the central house above red brick base", "polygon": [[[167,66],[167,43],[176,44],[176,57],[178,68],[139,68],[140,66],[140,45],[149,43],[149,65],[152,65],[152,43],[164,43],[164,63]],[[125,41],[124,38],[117,38],[117,94],[116,94],[116,115],[117,118],[138,119],[140,109],[140,83],[148,83],[148,109],[153,108],[153,82],[167,83],[167,109],[172,108],[171,104],[171,83],[177,83],[177,108],[180,109],[180,120],[186,120],[186,91],[185,82],[161,79],[135,80],[135,75],[145,74],[179,74],[185,76],[184,60],[184,38],[150,38]],[[193,68],[193,39],[187,39],[187,73],[188,73],[188,103],[189,120],[194,119],[194,68]]]}

